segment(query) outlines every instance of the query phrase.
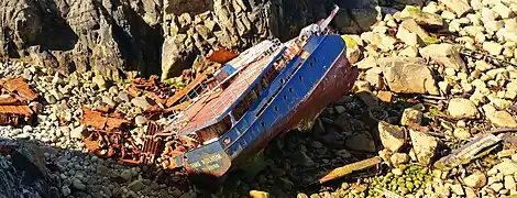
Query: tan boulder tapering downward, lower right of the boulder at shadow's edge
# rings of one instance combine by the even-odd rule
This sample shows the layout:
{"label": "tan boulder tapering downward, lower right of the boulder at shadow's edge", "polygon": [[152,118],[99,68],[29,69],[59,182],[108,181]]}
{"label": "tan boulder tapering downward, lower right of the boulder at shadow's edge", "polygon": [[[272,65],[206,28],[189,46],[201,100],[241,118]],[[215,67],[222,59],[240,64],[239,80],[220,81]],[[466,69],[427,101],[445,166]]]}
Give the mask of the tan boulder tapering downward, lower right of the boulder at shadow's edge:
{"label": "tan boulder tapering downward, lower right of the boulder at shadow's edge", "polygon": [[409,136],[418,162],[422,165],[429,165],[436,155],[438,140],[414,130],[409,130]]}

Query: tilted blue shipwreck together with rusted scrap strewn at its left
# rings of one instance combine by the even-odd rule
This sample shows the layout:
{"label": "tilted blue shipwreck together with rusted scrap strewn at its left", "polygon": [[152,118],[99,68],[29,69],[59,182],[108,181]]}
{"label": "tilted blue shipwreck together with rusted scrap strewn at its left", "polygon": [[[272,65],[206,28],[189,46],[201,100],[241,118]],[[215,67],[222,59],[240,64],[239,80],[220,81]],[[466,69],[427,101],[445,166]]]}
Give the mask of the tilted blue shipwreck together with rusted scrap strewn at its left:
{"label": "tilted blue shipwreck together with rusted scrap strewn at its left", "polygon": [[345,57],[342,37],[327,28],[338,10],[286,43],[266,40],[239,56],[224,50],[211,54],[208,58],[221,69],[196,76],[173,96],[160,89],[156,78],[132,82],[131,95],[156,101],[145,111],[168,116],[169,122],[151,122],[139,148],[132,141],[119,141],[128,138],[116,135],[125,124],[120,118],[86,110],[87,120],[99,120],[89,124],[98,132],[88,141],[116,148],[88,147],[102,150],[102,155],[118,153],[125,162],[183,167],[189,174],[219,177],[239,167],[273,138],[350,92],[358,70]]}

